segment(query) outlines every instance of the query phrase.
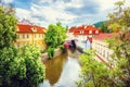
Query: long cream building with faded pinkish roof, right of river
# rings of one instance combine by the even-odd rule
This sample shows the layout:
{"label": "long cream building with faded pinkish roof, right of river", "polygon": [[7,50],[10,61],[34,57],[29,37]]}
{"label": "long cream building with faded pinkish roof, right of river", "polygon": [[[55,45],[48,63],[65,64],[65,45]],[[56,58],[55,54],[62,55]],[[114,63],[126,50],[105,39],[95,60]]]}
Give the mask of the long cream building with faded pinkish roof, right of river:
{"label": "long cream building with faded pinkish roof, right of river", "polygon": [[110,54],[113,54],[114,51],[108,48],[106,39],[110,39],[113,37],[114,34],[99,34],[94,35],[92,40],[92,49],[96,50],[96,57],[100,59],[100,61],[107,64],[113,64]]}

